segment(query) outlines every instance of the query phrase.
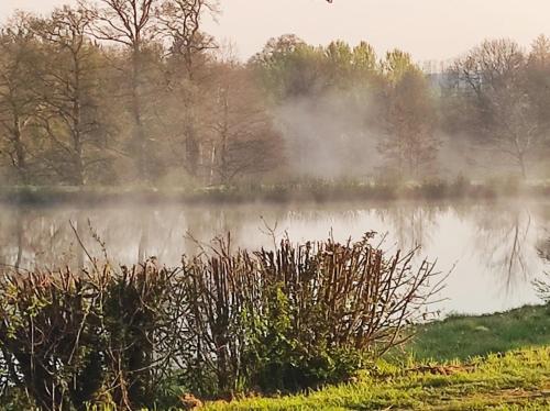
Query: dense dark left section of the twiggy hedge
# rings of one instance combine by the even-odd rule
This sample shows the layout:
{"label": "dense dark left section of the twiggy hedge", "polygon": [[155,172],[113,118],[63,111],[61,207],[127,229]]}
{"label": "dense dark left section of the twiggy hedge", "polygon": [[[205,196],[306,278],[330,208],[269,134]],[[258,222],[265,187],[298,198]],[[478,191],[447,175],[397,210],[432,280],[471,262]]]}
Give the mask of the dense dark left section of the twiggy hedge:
{"label": "dense dark left section of the twiggy hedge", "polygon": [[[151,262],[113,271],[4,275],[0,344],[7,388],[46,410],[95,401],[151,406],[177,335],[174,271]],[[169,313],[165,311],[169,309]]]}

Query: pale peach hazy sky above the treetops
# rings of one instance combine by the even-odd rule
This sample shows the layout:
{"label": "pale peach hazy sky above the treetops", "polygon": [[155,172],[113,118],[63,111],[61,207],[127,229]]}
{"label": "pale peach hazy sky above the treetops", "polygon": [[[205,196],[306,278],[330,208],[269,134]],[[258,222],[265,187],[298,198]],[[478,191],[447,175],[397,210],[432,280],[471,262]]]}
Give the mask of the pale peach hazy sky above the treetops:
{"label": "pale peach hazy sky above the treetops", "polygon": [[[70,1],[70,0],[69,0]],[[15,9],[44,12],[65,0],[0,0],[0,18]],[[221,0],[207,30],[249,57],[273,36],[295,33],[314,44],[366,40],[378,53],[400,47],[416,60],[452,58],[486,37],[529,45],[550,34],[550,0]]]}

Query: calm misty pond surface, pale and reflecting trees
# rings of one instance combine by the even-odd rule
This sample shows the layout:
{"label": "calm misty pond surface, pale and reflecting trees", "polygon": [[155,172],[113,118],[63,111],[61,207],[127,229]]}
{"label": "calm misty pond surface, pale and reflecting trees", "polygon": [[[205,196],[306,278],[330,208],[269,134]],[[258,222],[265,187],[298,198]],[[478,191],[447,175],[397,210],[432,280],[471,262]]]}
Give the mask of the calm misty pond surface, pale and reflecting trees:
{"label": "calm misty pond surface, pale and reflecting trees", "polygon": [[198,241],[231,232],[235,246],[271,246],[265,224],[294,241],[386,235],[387,251],[420,246],[419,257],[451,271],[444,312],[485,313],[540,302],[531,281],[549,267],[550,201],[480,203],[248,204],[231,207],[109,206],[15,208],[0,206],[0,264],[57,267],[86,263],[70,222],[92,255],[105,242],[109,258],[133,264],[156,256],[177,265]]}

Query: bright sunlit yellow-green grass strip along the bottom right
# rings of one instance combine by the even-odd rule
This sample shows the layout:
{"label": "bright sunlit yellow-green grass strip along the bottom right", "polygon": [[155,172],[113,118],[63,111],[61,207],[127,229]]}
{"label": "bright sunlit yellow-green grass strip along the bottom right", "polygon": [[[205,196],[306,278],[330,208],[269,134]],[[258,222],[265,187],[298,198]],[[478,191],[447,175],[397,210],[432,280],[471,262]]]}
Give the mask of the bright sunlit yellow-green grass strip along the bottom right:
{"label": "bright sunlit yellow-green grass strip along the bottom right", "polygon": [[440,365],[380,363],[356,381],[280,398],[213,402],[207,410],[547,410],[550,347]]}

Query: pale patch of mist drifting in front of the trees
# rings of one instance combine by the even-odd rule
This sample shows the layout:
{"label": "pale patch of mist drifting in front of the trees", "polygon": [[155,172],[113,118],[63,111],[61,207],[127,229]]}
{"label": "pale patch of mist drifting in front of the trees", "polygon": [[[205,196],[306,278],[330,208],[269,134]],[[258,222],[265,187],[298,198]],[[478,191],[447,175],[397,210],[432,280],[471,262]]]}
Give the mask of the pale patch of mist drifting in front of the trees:
{"label": "pale patch of mist drifting in front of the trees", "polygon": [[381,130],[366,124],[367,90],[294,98],[275,110],[286,157],[297,176],[341,179],[372,176],[382,164]]}

